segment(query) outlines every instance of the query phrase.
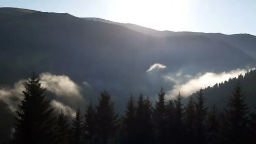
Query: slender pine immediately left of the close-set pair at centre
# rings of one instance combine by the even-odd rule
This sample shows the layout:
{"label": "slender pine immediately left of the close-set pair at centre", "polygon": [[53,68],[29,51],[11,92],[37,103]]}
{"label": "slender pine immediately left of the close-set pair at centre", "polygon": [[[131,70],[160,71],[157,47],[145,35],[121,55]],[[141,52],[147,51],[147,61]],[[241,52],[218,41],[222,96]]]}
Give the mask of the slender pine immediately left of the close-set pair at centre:
{"label": "slender pine immediately left of the close-set pair at centre", "polygon": [[130,97],[129,101],[126,104],[125,115],[123,118],[122,124],[122,134],[124,143],[133,143],[135,138],[135,100]]}

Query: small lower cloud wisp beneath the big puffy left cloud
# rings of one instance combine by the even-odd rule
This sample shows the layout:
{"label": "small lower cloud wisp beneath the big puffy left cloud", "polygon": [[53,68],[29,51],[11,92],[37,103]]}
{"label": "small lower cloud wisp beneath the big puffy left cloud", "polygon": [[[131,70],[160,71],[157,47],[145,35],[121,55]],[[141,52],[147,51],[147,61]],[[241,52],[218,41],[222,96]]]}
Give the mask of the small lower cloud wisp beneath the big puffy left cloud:
{"label": "small lower cloud wisp beneath the big puffy left cloud", "polygon": [[52,100],[51,101],[52,107],[59,112],[60,110],[63,110],[63,113],[67,116],[70,117],[75,117],[76,116],[76,111],[69,106],[66,106],[64,103],[57,101],[57,100]]}

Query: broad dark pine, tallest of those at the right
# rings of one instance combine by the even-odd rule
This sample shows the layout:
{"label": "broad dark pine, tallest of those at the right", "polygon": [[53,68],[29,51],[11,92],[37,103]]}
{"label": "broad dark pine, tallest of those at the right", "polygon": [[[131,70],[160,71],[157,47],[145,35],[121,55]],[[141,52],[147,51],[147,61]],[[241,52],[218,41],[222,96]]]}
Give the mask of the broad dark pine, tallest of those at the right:
{"label": "broad dark pine, tallest of those at the right", "polygon": [[249,107],[247,107],[247,104],[245,103],[245,94],[239,83],[235,87],[233,95],[228,101],[226,115],[226,142],[234,144],[246,143]]}

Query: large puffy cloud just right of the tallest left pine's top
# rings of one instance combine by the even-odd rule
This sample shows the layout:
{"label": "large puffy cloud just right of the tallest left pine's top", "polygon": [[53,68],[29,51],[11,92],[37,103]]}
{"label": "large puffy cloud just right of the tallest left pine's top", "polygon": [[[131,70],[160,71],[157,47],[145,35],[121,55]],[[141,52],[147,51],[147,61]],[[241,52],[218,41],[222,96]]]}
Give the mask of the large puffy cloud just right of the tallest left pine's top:
{"label": "large puffy cloud just right of the tallest left pine's top", "polygon": [[65,75],[53,75],[51,73],[42,73],[40,75],[42,87],[46,88],[62,98],[72,98],[73,100],[82,100],[82,94],[80,93],[80,87],[71,81],[68,76]]}

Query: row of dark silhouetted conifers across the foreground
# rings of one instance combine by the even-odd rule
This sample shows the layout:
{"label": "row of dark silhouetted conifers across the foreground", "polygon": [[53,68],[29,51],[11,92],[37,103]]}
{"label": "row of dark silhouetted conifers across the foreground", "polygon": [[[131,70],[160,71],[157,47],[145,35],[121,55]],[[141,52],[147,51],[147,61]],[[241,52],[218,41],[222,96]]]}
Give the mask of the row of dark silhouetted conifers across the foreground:
{"label": "row of dark silhouetted conifers across the foreground", "polygon": [[155,106],[149,97],[140,94],[136,101],[131,95],[124,116],[115,113],[104,91],[98,106],[90,102],[85,114],[78,107],[71,124],[62,110],[54,114],[44,93],[33,74],[23,91],[10,143],[256,143],[255,108],[247,106],[239,83],[224,110],[206,107],[202,89],[185,106],[181,93],[166,100],[161,87]]}

